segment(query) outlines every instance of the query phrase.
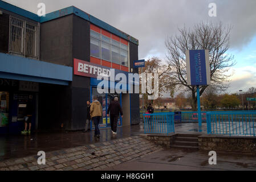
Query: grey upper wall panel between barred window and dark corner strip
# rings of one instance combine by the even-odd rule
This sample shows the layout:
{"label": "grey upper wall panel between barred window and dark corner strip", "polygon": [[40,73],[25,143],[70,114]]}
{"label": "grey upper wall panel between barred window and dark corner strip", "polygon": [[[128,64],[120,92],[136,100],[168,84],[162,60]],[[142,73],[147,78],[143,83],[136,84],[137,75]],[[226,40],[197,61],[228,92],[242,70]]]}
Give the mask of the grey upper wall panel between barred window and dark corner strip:
{"label": "grey upper wall panel between barred window and dark corner strip", "polygon": [[73,15],[64,16],[40,26],[40,60],[73,66]]}

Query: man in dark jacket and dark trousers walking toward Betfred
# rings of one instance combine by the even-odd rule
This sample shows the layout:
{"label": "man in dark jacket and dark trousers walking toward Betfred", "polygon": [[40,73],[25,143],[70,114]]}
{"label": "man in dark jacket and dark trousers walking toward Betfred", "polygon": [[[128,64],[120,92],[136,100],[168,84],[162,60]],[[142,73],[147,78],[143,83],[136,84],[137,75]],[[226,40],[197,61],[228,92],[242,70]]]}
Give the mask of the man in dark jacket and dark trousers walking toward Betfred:
{"label": "man in dark jacket and dark trousers walking toward Betfred", "polygon": [[108,111],[107,111],[108,117],[109,117],[109,111],[110,111],[110,123],[111,123],[112,134],[116,134],[119,113],[121,114],[121,117],[123,118],[123,110],[118,102],[118,97],[115,97],[114,101],[111,102],[111,104],[109,104]]}

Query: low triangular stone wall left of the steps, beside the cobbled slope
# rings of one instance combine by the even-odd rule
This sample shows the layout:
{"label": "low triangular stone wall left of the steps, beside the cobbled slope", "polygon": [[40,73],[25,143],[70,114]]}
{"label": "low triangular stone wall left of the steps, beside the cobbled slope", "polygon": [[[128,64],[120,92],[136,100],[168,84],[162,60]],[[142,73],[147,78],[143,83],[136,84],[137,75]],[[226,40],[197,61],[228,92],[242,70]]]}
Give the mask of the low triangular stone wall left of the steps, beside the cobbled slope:
{"label": "low triangular stone wall left of the steps, beside the cobbled slope", "polygon": [[174,143],[177,134],[169,134],[169,135],[161,135],[161,134],[147,134],[141,135],[148,140],[151,140],[157,145],[170,148],[170,146]]}

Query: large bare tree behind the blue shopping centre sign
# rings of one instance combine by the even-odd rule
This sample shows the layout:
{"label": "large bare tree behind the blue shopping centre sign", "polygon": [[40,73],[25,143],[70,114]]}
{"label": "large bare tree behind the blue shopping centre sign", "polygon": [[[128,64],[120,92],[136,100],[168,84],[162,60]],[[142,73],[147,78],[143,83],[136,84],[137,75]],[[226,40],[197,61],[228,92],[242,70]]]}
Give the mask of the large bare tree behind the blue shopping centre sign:
{"label": "large bare tree behind the blue shopping centre sign", "polygon": [[[178,89],[184,87],[192,93],[192,109],[196,110],[196,85],[188,85],[186,80],[186,50],[209,49],[210,80],[214,88],[226,90],[231,75],[227,71],[232,67],[234,57],[227,55],[231,27],[224,27],[221,22],[198,23],[192,29],[178,28],[179,34],[170,36],[165,41],[168,50],[166,57],[171,68],[173,83]],[[200,86],[200,96],[208,85]]]}

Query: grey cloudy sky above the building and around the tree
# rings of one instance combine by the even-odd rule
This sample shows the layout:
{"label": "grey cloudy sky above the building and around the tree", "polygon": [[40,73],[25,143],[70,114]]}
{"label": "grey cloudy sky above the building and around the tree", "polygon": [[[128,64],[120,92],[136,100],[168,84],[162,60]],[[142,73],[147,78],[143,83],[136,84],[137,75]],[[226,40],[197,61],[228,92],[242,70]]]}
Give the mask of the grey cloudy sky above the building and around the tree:
{"label": "grey cloudy sky above the building and around the tree", "polygon": [[[76,6],[112,26],[139,39],[139,59],[158,56],[165,60],[164,41],[177,34],[178,27],[192,27],[198,22],[218,22],[233,27],[230,49],[237,65],[228,93],[256,87],[256,1],[255,0],[5,0],[37,13],[45,3],[46,13]],[[217,16],[210,17],[209,3],[216,3]]]}

